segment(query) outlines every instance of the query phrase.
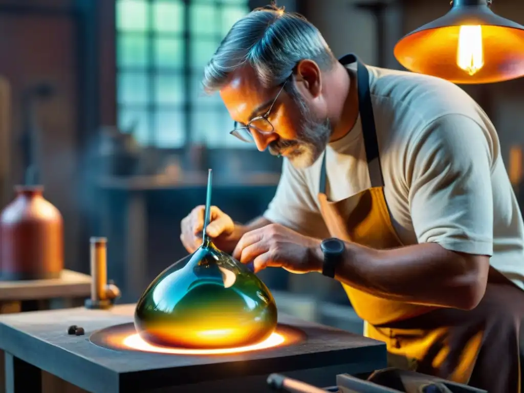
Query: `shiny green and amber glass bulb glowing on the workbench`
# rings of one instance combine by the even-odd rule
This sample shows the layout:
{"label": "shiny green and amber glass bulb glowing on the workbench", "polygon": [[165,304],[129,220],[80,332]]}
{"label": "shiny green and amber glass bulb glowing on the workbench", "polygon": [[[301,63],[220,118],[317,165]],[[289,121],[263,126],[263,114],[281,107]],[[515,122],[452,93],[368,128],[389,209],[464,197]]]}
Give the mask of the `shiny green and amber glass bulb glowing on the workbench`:
{"label": "shiny green and amber glass bulb glowing on the workbench", "polygon": [[135,310],[135,327],[145,341],[179,348],[253,345],[276,326],[269,289],[209,240],[163,271]]}

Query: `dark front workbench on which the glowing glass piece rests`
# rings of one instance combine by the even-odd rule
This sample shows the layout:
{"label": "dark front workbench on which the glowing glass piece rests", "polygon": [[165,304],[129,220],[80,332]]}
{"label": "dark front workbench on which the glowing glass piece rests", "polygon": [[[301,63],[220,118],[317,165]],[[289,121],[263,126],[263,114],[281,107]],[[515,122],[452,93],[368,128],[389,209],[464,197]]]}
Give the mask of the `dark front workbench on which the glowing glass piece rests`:
{"label": "dark front workbench on which the glowing glass piece rests", "polygon": [[[289,346],[233,355],[166,355],[115,351],[93,344],[93,332],[132,323],[134,304],[112,310],[74,308],[0,316],[6,391],[41,391],[41,371],[93,393],[129,391],[267,392],[266,378],[282,373],[316,386],[332,386],[337,374],[386,367],[386,345],[320,324],[279,315],[279,323],[307,339]],[[69,335],[70,325],[85,335]]]}

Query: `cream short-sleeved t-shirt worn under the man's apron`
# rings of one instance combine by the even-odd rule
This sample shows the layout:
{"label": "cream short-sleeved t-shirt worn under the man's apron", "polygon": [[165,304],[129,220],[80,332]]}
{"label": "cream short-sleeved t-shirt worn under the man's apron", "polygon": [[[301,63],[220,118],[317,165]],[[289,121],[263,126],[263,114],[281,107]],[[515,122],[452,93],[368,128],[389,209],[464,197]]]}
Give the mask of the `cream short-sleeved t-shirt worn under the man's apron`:
{"label": "cream short-sleeved t-shirt worn under the man's apron", "polygon": [[[482,108],[445,80],[368,70],[384,194],[402,243],[435,242],[490,255],[508,278],[524,280],[522,216],[495,127]],[[330,200],[370,188],[360,118],[325,154]],[[313,166],[296,169],[284,159],[266,219],[328,237],[318,201],[321,164],[322,156]]]}

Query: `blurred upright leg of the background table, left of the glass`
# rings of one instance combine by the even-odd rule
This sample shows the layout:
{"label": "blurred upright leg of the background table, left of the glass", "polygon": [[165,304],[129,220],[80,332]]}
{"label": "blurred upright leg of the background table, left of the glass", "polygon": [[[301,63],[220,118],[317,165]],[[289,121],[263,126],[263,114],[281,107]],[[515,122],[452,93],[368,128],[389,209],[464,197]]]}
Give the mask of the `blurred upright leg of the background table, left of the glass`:
{"label": "blurred upright leg of the background table, left of the glass", "polygon": [[132,192],[127,201],[126,225],[126,298],[137,301],[148,285],[147,258],[147,203],[142,192]]}

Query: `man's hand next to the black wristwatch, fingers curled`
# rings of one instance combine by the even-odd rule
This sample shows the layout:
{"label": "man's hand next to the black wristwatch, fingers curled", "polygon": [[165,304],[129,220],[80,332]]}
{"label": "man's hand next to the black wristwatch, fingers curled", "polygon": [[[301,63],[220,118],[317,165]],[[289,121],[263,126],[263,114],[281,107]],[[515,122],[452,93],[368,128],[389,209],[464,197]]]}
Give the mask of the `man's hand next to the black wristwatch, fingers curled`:
{"label": "man's hand next to the black wristwatch, fingers curled", "polygon": [[244,264],[253,261],[255,272],[266,267],[282,267],[292,273],[322,271],[320,243],[285,226],[270,224],[244,234],[233,257]]}

